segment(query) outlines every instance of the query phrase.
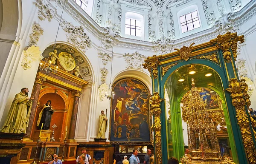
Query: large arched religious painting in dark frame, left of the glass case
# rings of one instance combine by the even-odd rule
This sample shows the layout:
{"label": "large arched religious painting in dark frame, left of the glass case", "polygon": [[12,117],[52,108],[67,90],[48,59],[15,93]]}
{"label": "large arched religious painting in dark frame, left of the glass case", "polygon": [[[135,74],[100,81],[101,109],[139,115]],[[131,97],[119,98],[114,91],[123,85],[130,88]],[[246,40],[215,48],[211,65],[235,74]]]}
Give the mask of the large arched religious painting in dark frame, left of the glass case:
{"label": "large arched religious painting in dark frame, left of the glass case", "polygon": [[137,79],[121,79],[113,85],[110,141],[150,144],[149,90]]}

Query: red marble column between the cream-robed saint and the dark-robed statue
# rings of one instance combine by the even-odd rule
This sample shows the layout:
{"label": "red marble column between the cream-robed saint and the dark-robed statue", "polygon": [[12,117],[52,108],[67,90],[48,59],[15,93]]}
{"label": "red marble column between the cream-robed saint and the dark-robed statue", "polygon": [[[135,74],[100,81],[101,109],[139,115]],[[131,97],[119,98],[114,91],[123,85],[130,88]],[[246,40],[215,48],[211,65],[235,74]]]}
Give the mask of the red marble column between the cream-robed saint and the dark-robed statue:
{"label": "red marble column between the cream-robed saint and the dark-robed statue", "polygon": [[35,78],[35,84],[34,84],[34,88],[31,94],[31,97],[34,97],[33,99],[33,104],[31,107],[31,113],[30,113],[30,117],[29,117],[29,126],[26,128],[26,136],[25,137],[30,137],[31,136],[31,132],[32,132],[32,127],[33,127],[33,121],[35,118],[35,112],[36,112],[36,107],[38,105],[38,98],[39,98],[39,93],[41,90],[41,85],[43,84],[43,82],[46,80],[46,78],[41,77],[41,76],[36,76]]}

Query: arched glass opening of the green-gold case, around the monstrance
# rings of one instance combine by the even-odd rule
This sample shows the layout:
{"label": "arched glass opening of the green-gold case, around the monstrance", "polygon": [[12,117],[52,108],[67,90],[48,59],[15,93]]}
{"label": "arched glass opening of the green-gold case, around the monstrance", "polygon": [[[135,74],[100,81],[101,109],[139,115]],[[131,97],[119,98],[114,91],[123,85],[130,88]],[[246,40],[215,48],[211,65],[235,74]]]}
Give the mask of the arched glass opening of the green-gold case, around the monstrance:
{"label": "arched glass opening of the green-gold case, around the monstrance", "polygon": [[[209,143],[212,141],[212,135],[215,135],[210,131],[203,134],[198,131],[195,134],[195,147],[201,147],[200,141],[204,139],[209,149],[219,150],[219,152],[216,150],[218,153],[216,156],[217,161],[215,162],[225,157],[231,157],[236,161],[236,148],[227,113],[227,105],[224,101],[221,79],[214,70],[204,65],[183,66],[175,70],[166,82],[165,98],[169,156],[179,156],[179,158],[183,156],[183,154],[178,155],[179,153],[183,153],[183,151],[177,151],[179,147],[177,141],[178,143],[184,143],[184,149],[189,149],[190,153],[194,152],[193,155],[196,153],[196,150],[193,150],[194,148],[191,145],[192,139],[189,136],[189,127],[187,125],[189,119],[194,114],[191,113],[191,100],[189,98],[192,94],[190,90],[192,88],[192,79],[194,79],[199,96],[203,101],[203,106],[208,116],[207,120],[212,122],[210,126],[215,130],[216,139],[218,139],[218,146],[220,148],[216,148],[216,145],[211,145],[212,143],[207,144],[207,141]],[[201,140],[199,135],[201,136]],[[207,145],[203,145],[201,148],[207,149]],[[180,146],[182,147],[183,145]],[[206,154],[206,156],[208,155]]]}

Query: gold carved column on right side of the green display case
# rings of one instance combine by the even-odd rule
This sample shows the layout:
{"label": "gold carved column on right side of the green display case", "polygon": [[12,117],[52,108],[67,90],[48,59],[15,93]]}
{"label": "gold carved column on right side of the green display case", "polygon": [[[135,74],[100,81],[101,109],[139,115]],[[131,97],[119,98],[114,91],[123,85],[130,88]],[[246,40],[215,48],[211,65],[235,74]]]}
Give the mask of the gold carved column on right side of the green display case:
{"label": "gold carved column on right side of the green display case", "polygon": [[249,95],[247,93],[248,85],[244,79],[238,82],[237,79],[230,79],[229,88],[226,89],[231,94],[232,105],[236,108],[236,119],[241,130],[241,136],[244,148],[247,153],[247,159],[250,164],[256,163],[255,146],[253,136],[250,130],[250,119],[246,113],[245,105],[250,106]]}

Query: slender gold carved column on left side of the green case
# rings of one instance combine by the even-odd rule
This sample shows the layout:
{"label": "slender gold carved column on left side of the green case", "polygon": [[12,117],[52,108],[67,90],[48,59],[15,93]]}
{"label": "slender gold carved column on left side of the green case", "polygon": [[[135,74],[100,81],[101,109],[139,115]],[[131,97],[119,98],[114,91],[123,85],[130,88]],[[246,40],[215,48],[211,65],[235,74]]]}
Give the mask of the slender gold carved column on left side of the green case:
{"label": "slender gold carved column on left side of the green case", "polygon": [[159,93],[154,92],[150,97],[150,113],[154,116],[154,125],[152,128],[154,129],[154,139],[155,139],[155,153],[156,153],[156,161],[157,164],[162,164],[162,147],[161,147],[161,119],[160,115],[162,110],[160,108],[160,102],[163,99],[160,99]]}

